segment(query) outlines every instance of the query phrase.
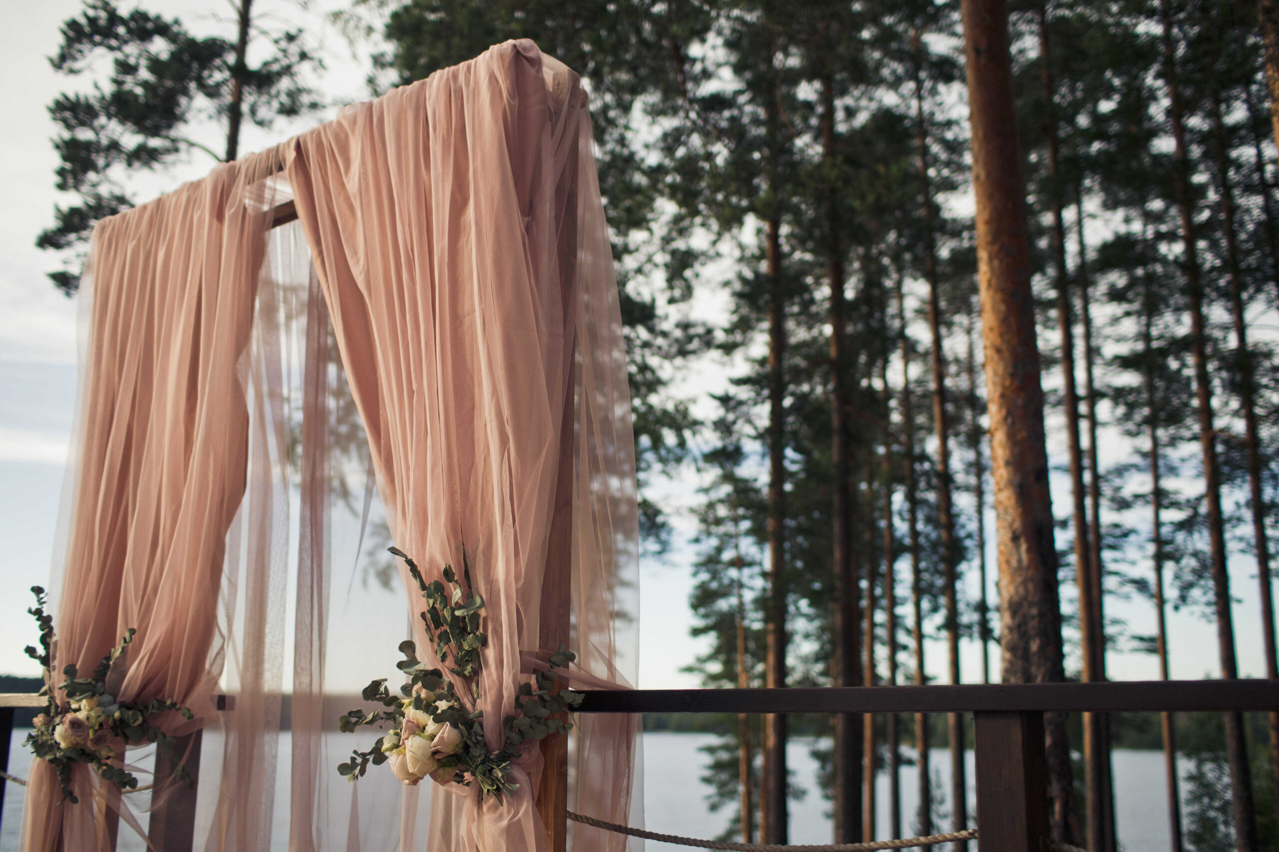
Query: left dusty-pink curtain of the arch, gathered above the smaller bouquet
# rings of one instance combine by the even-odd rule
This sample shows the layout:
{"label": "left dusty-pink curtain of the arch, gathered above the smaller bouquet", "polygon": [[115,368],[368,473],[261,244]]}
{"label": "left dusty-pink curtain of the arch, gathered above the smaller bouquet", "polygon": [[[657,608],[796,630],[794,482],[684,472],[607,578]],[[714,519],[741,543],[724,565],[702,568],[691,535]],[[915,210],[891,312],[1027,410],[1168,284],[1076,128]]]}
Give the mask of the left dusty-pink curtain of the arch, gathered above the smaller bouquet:
{"label": "left dusty-pink curtain of the arch, gathered above the smaller bouquet", "polygon": [[[234,640],[239,701],[223,725],[226,780],[210,785],[237,789],[215,806],[237,840],[219,848],[265,848],[270,832],[286,436],[279,294],[260,279],[276,193],[266,178],[280,165],[278,148],[221,165],[95,229],[65,558],[55,577],[52,686],[64,667],[91,670],[136,628],[107,686],[123,701],[189,706],[193,720],[166,714],[169,734],[217,719],[214,696]],[[82,805],[63,803],[52,768],[35,762],[24,849],[110,848],[106,809],[138,828],[119,792],[83,764],[73,788]],[[169,793],[161,785],[151,798]]]}

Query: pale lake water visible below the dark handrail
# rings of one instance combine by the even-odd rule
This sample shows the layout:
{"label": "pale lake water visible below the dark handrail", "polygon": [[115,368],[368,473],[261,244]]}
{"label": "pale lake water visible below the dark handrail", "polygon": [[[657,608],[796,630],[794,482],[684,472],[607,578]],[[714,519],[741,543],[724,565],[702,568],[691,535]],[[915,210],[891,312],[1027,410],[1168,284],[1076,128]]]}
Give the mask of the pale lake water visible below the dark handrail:
{"label": "pale lake water visible below the dark handrail", "polygon": [[[22,747],[26,730],[14,730],[9,757],[9,771],[24,778],[31,762],[31,752]],[[210,739],[216,736],[211,734]],[[280,766],[288,766],[288,732],[280,736]],[[352,734],[334,734],[345,738]],[[367,739],[367,737],[365,737]],[[712,838],[729,824],[730,814],[720,811],[711,814],[706,807],[706,785],[701,782],[709,757],[701,747],[711,743],[711,734],[648,733],[645,734],[645,821],[651,832],[682,834],[686,837]],[[345,753],[347,743],[334,743],[333,753]],[[790,806],[792,843],[830,843],[831,821],[830,803],[816,789],[817,762],[812,759],[811,741],[792,741],[787,751],[788,762],[794,773],[794,783],[806,791],[806,796]],[[206,739],[205,755],[215,747]],[[907,753],[908,750],[907,750]],[[950,755],[945,750],[932,751],[932,766],[938,787],[944,792],[949,787]],[[142,762],[141,757],[130,757],[130,762]],[[148,762],[148,761],[147,761]],[[1124,852],[1165,852],[1168,849],[1168,816],[1164,800],[1164,757],[1155,751],[1115,751],[1115,814],[1118,816],[1119,842]],[[972,753],[968,753],[968,806],[972,809],[975,793],[972,788]],[[281,784],[286,785],[288,773],[280,773]],[[279,791],[276,811],[281,820],[276,826],[274,847],[288,846],[288,830],[283,824],[285,810],[280,803],[288,797]],[[889,839],[888,778],[877,779],[877,839]],[[916,773],[913,766],[902,770],[902,809],[903,830],[912,833],[913,814],[917,802]],[[137,803],[146,805],[146,793],[137,794]],[[4,812],[0,820],[0,852],[17,852],[19,828],[22,823],[23,788],[18,784],[5,785]],[[939,826],[943,830],[948,826]],[[120,852],[143,849],[139,839],[127,828],[120,828]],[[666,843],[647,843],[648,852],[675,852],[688,847]]]}

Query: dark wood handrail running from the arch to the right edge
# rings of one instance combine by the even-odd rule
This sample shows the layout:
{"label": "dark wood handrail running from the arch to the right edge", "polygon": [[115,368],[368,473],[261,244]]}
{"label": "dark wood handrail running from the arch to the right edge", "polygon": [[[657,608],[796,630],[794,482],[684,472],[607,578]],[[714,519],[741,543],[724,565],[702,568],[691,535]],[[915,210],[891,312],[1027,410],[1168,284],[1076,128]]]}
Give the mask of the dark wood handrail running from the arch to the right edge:
{"label": "dark wood handrail running from the arch to the right edge", "polygon": [[578,713],[1279,710],[1276,681],[1110,681],[790,690],[591,690]]}

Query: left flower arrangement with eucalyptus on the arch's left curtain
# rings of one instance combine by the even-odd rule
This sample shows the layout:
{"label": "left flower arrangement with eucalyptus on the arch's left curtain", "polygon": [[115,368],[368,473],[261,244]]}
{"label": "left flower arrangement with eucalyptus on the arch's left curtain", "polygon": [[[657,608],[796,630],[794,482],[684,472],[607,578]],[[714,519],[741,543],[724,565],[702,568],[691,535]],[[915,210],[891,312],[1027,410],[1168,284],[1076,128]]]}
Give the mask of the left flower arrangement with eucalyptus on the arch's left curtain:
{"label": "left flower arrangement with eucalyptus on the arch's left curtain", "polygon": [[[50,665],[52,665],[54,618],[45,613],[47,603],[45,590],[32,586],[31,591],[36,595],[36,606],[27,611],[40,624],[40,650],[28,645],[26,651],[27,656],[43,668],[45,683],[49,684],[52,682]],[[133,641],[134,632],[129,628],[120,643],[102,658],[87,678],[78,677],[74,665],[63,669],[67,679],[56,692],[65,696],[65,704],[59,704],[56,695],[51,695],[47,686],[40,691],[49,697],[49,704],[45,711],[36,716],[36,727],[27,734],[26,745],[36,757],[49,762],[58,771],[63,801],[79,802],[72,792],[72,768],[75,764],[90,764],[104,780],[119,784],[124,789],[134,789],[138,785],[138,779],[129,770],[113,762],[115,743],[120,741],[128,746],[156,743],[160,753],[177,766],[175,774],[192,785],[191,774],[175,752],[177,738],[151,724],[152,716],[169,710],[191,719],[191,710],[164,698],[143,702],[119,701],[106,691],[111,667]]]}

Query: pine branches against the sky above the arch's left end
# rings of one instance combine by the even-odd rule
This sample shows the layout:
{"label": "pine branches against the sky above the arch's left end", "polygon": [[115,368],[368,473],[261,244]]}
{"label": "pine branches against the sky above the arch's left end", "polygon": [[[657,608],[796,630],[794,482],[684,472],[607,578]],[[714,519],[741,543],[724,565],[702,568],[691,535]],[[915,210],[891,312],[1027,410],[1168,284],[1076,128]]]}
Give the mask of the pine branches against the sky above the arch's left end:
{"label": "pine branches against the sky above the arch's left end", "polygon": [[[198,37],[177,18],[86,0],[81,14],[63,24],[61,36],[50,58],[55,70],[75,77],[105,67],[110,73],[105,83],[60,93],[49,106],[59,128],[56,185],[78,201],[55,209],[54,226],[36,241],[40,248],[81,249],[98,220],[133,206],[125,184],[136,171],[173,164],[192,150],[220,160],[223,154],[189,137],[192,123],[226,123],[231,111],[242,111],[252,123],[270,127],[276,116],[320,105],[303,82],[318,59],[299,29],[269,35],[266,59],[248,65],[234,38]],[[238,132],[231,132],[228,154],[237,145]],[[68,294],[78,287],[81,260],[73,255],[68,269],[50,275]]]}

